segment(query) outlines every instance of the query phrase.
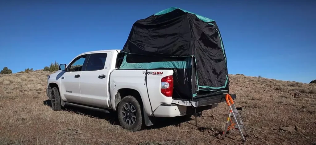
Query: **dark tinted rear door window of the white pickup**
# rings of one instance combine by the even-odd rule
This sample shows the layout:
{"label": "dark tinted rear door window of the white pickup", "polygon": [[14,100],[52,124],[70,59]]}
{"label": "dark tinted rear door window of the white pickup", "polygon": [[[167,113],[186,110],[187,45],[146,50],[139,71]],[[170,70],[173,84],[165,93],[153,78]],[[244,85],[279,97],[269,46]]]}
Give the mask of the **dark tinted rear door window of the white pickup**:
{"label": "dark tinted rear door window of the white pickup", "polygon": [[106,56],[107,56],[107,53],[91,54],[88,59],[86,71],[104,69]]}

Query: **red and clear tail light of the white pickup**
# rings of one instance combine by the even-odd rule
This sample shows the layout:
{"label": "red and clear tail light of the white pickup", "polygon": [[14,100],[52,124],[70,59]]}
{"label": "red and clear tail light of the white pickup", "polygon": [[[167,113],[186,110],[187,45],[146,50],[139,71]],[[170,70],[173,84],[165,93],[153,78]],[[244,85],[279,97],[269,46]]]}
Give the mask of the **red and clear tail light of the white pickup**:
{"label": "red and clear tail light of the white pickup", "polygon": [[161,93],[167,97],[173,94],[173,77],[165,76],[161,79]]}

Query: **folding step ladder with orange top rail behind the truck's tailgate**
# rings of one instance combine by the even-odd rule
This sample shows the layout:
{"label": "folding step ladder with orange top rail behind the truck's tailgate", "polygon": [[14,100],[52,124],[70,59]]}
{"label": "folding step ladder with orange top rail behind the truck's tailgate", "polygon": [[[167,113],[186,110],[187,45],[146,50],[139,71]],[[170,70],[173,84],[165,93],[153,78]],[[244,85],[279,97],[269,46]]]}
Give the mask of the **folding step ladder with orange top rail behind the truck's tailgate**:
{"label": "folding step ladder with orange top rail behind the truck's tailgate", "polygon": [[[223,139],[224,139],[224,137],[225,137],[225,135],[226,135],[228,130],[236,129],[236,130],[239,130],[243,141],[246,141],[245,140],[245,136],[248,136],[248,133],[246,131],[246,127],[245,127],[244,123],[242,122],[242,120],[240,118],[240,114],[238,113],[237,108],[235,107],[234,101],[233,101],[232,97],[229,94],[226,95],[225,99],[226,99],[226,102],[227,102],[227,104],[229,106],[229,115],[228,115],[228,118],[227,118],[227,123],[226,123],[225,130],[223,132]],[[231,119],[231,117],[234,118],[235,123],[233,123],[233,120]],[[238,119],[237,119],[237,117],[238,117]],[[244,130],[245,136],[242,133],[241,129]]]}

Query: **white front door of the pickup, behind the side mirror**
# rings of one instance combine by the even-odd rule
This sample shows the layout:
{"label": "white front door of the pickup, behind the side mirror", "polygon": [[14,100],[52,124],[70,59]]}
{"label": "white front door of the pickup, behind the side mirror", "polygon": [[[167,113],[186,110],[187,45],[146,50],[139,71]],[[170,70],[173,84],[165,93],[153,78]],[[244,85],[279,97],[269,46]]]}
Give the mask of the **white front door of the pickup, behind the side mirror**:
{"label": "white front door of the pickup, behind the side mirror", "polygon": [[66,72],[62,75],[60,81],[61,95],[67,101],[80,101],[80,78],[82,70],[87,63],[87,55],[76,57],[66,68]]}

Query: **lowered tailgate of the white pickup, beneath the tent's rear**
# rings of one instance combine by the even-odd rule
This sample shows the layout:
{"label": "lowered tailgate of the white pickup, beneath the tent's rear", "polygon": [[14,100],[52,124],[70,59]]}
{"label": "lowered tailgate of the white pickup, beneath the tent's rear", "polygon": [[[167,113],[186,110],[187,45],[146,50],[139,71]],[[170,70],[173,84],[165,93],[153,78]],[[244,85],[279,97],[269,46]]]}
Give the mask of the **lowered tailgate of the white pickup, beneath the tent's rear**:
{"label": "lowered tailgate of the white pickup, beneath the tent's rear", "polygon": [[[193,106],[193,107],[207,106],[207,105],[213,105],[213,104],[225,102],[226,101],[225,96],[226,94],[220,94],[216,96],[192,99],[191,101],[187,99],[173,99],[172,103],[181,105],[181,106]],[[236,99],[235,94],[230,94],[230,96],[232,97],[233,100]]]}

